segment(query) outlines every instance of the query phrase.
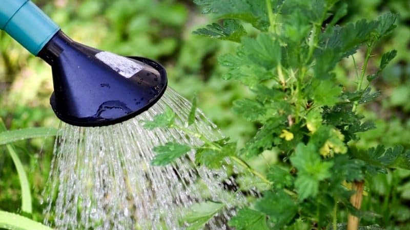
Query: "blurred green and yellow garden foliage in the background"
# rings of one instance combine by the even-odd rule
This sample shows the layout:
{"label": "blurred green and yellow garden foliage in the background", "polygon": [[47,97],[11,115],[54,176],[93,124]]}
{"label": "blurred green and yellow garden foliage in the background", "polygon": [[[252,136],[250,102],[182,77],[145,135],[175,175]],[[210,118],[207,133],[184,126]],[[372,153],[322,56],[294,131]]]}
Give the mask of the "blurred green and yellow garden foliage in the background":
{"label": "blurred green and yellow garden foliage in the background", "polygon": [[[145,56],[167,68],[170,86],[182,96],[198,96],[199,107],[233,140],[243,145],[257,130],[237,116],[232,102],[252,93],[221,78],[226,71],[217,63],[220,54],[234,52],[235,44],[193,35],[192,31],[211,19],[201,15],[191,0],[36,0],[74,40],[121,55]],[[392,49],[398,56],[374,84],[382,97],[361,111],[378,128],[362,135],[356,143],[367,148],[377,144],[410,148],[410,1],[356,0],[350,2],[348,15],[341,19],[374,19],[381,12],[400,13],[398,27],[382,42],[372,59],[376,70],[380,54]],[[357,60],[359,65],[361,60]],[[345,59],[337,69],[338,80],[356,87],[353,61]],[[49,106],[53,90],[50,67],[30,55],[4,32],[0,32],[0,117],[8,129],[57,127]],[[42,221],[41,192],[48,178],[53,139],[16,143],[34,197],[32,218]],[[19,212],[20,188],[13,162],[0,147],[0,209]],[[363,219],[389,229],[410,229],[410,172],[392,171],[371,178],[371,192],[364,198]]]}

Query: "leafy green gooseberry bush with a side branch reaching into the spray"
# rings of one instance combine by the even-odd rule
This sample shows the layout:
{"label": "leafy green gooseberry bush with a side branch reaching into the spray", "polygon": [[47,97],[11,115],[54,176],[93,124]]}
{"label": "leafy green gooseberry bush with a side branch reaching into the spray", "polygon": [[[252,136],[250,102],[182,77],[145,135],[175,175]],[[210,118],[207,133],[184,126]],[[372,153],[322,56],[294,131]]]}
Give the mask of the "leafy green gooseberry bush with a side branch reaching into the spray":
{"label": "leafy green gooseberry bush with a side branch reaching into the spray", "polygon": [[[238,207],[229,221],[238,230],[342,229],[346,225],[357,229],[358,218],[368,215],[360,210],[366,178],[388,169],[410,169],[410,151],[401,146],[365,150],[355,146],[361,132],[375,128],[359,111],[382,94],[372,90],[372,82],[397,51],[383,54],[375,70],[367,66],[380,39],[394,30],[397,15],[384,13],[375,20],[337,25],[347,14],[344,1],[194,2],[217,19],[195,34],[238,43],[236,53],[222,55],[218,61],[229,70],[224,79],[239,81],[254,93],[253,98],[236,101],[233,109],[259,130],[238,148],[229,139],[212,141],[200,132],[189,133],[175,124],[175,114],[168,109],[145,126],[180,129],[204,144],[158,146],[152,164],[169,164],[194,149],[198,165],[221,168],[229,158],[242,167],[238,173],[252,175],[255,184],[263,186],[258,186],[261,195]],[[356,61],[362,53],[362,61]],[[336,78],[335,68],[345,59],[353,59],[356,89]],[[195,125],[195,100],[193,105],[186,125]],[[267,172],[248,164],[267,151],[276,152],[280,159],[267,161]],[[206,215],[190,214],[197,217],[190,218],[190,229],[201,229],[222,207],[208,203],[204,209],[211,211]],[[342,218],[340,213],[350,216]]]}

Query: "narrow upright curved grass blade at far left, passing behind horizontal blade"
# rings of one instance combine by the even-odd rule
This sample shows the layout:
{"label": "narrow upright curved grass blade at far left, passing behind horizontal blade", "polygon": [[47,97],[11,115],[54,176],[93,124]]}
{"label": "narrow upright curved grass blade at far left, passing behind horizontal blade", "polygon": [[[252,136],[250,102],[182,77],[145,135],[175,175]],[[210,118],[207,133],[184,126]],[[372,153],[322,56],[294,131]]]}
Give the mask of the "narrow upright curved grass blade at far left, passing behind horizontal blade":
{"label": "narrow upright curved grass blade at far left, passing behind horizontal blade", "polygon": [[[4,125],[3,120],[0,118],[0,131],[5,131],[6,126]],[[10,153],[11,158],[13,159],[14,166],[16,167],[18,179],[20,181],[20,187],[22,188],[22,211],[26,213],[32,213],[33,207],[31,203],[31,192],[30,192],[30,183],[27,179],[26,171],[24,170],[23,164],[18,158],[18,155],[11,144],[6,145],[7,150]]]}

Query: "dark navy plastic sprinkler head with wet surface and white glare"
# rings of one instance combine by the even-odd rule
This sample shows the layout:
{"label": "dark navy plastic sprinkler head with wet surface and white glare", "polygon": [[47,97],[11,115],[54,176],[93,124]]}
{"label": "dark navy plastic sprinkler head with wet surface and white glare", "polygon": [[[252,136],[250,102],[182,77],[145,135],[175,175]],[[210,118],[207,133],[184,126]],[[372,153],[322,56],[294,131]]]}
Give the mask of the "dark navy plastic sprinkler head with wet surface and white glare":
{"label": "dark navy plastic sprinkler head with wet surface and white glare", "polygon": [[61,31],[38,57],[52,67],[54,113],[75,126],[131,119],[154,105],[167,88],[167,73],[159,63],[90,48]]}

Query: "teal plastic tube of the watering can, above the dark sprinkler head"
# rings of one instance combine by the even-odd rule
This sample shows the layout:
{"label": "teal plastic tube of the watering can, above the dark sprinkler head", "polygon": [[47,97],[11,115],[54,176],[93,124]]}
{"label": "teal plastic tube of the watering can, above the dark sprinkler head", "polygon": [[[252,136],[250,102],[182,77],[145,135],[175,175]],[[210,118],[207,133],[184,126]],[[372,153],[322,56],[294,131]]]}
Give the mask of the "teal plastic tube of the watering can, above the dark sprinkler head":
{"label": "teal plastic tube of the watering can, above the dark sprinkler head", "polygon": [[0,29],[37,56],[60,28],[30,0],[0,0]]}

